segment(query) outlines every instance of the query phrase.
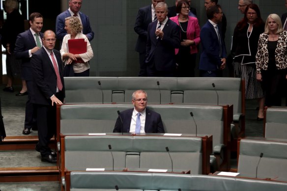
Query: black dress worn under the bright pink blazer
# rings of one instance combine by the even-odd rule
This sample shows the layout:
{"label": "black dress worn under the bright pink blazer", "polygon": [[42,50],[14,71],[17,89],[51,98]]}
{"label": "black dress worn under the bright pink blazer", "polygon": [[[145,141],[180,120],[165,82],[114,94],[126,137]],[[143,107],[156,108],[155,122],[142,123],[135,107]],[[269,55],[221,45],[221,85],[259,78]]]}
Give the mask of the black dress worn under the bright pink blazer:
{"label": "black dress worn under the bright pink blazer", "polygon": [[[180,28],[180,42],[187,40],[186,30],[187,22],[179,22]],[[175,55],[176,61],[176,77],[194,77],[194,68],[196,62],[196,54],[190,54],[190,47],[179,47],[177,55]]]}

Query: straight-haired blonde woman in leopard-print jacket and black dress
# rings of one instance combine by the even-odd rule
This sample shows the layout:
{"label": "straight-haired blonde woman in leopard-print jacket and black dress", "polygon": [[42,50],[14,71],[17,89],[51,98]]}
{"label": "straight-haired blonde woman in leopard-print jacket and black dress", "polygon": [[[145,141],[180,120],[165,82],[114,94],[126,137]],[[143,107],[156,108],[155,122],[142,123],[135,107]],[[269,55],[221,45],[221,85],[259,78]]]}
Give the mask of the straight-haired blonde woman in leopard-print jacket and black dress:
{"label": "straight-haired blonde woman in leopard-print jacket and black dress", "polygon": [[263,83],[266,106],[281,106],[287,79],[287,31],[277,14],[267,17],[256,55],[256,79]]}

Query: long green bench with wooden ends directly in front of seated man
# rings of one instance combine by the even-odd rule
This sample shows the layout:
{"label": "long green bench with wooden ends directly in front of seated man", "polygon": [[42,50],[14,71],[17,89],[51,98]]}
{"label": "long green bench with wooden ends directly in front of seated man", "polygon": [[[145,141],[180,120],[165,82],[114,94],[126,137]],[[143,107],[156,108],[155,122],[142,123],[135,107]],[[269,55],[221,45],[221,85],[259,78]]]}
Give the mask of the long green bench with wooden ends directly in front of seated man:
{"label": "long green bench with wooden ends directly in front of seated man", "polygon": [[[62,140],[62,176],[65,170],[112,170],[113,165],[115,170],[152,168],[171,171],[173,167],[177,172],[191,170],[194,174],[209,173],[212,136],[63,136]],[[111,150],[108,145],[111,145]],[[166,147],[169,148],[173,165]]]}

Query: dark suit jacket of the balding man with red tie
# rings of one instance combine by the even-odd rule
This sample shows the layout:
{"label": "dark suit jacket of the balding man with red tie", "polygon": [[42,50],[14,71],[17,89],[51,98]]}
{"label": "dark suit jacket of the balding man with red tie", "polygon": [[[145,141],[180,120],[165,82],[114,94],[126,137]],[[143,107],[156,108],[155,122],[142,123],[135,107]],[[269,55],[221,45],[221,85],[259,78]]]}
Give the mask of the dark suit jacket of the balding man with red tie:
{"label": "dark suit jacket of the balding man with red tie", "polygon": [[[53,50],[58,63],[58,69],[63,84],[63,89],[60,91],[59,100],[63,101],[65,97],[65,86],[63,78],[63,64],[61,61],[60,52]],[[39,51],[32,55],[31,58],[32,73],[33,73],[33,94],[31,102],[33,104],[51,105],[50,97],[56,95],[57,91],[57,76],[53,63],[42,47]]]}

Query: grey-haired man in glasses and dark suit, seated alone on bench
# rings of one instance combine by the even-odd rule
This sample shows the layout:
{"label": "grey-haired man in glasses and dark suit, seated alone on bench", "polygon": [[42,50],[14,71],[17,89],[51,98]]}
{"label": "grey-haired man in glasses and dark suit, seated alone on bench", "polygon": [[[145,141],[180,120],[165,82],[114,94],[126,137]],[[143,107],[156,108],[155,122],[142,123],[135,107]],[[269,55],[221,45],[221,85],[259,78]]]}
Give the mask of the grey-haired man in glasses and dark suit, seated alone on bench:
{"label": "grey-haired man in glasses and dark suit, seated alone on bench", "polygon": [[114,133],[165,133],[160,114],[146,108],[147,94],[144,90],[133,93],[132,103],[134,109],[127,109],[119,114]]}

